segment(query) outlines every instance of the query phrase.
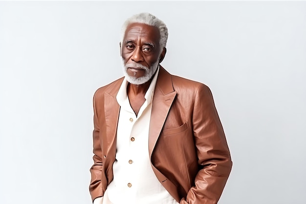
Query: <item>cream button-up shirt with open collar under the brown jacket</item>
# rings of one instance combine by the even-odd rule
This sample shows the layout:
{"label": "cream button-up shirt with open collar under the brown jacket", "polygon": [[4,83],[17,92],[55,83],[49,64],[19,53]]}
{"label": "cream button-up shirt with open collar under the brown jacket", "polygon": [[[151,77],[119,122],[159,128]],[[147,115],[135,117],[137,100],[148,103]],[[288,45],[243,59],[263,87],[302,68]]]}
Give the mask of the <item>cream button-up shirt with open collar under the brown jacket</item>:
{"label": "cream button-up shirt with open collar under the brown jacket", "polygon": [[123,80],[117,94],[121,106],[117,128],[116,161],[113,181],[93,204],[177,204],[157,180],[149,159],[149,125],[154,89],[159,68],[145,94],[138,115],[127,95],[128,81]]}

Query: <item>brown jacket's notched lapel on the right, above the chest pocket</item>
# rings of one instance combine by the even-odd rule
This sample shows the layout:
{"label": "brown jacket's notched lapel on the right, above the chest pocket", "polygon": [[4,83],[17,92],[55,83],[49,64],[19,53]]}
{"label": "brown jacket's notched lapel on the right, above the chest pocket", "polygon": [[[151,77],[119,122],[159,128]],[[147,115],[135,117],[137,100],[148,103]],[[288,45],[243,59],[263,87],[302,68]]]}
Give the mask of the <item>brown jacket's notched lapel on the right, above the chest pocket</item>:
{"label": "brown jacket's notched lapel on the right, above the chest pocket", "polygon": [[172,77],[160,66],[155,86],[152,113],[149,128],[149,155],[150,159],[154,146],[165,123],[170,107],[175,99],[176,91],[173,89]]}

